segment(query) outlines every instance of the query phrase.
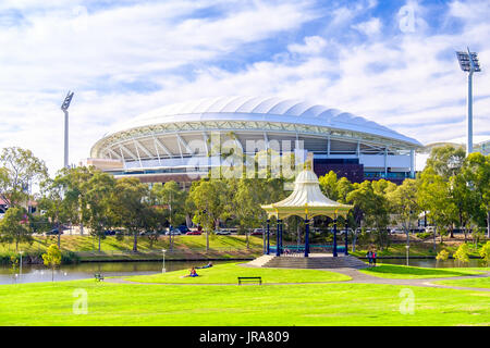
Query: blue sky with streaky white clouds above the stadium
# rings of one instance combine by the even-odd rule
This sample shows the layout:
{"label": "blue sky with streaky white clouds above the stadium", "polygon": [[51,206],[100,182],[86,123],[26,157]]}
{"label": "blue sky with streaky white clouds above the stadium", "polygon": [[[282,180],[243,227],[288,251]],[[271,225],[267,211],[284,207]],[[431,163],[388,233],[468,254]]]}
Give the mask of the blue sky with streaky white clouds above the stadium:
{"label": "blue sky with streaky white clouds above the stadium", "polygon": [[422,144],[465,135],[466,77],[479,52],[475,135],[490,136],[488,1],[1,0],[0,148],[53,174],[112,125],[218,96],[306,99]]}

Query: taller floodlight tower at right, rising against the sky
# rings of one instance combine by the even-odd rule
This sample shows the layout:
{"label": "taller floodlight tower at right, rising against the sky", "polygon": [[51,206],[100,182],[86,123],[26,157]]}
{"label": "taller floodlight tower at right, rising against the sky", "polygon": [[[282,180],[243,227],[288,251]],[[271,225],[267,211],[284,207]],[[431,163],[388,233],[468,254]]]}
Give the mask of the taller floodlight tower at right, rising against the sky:
{"label": "taller floodlight tower at right, rising against the sky", "polygon": [[457,60],[460,61],[461,70],[468,73],[468,97],[466,100],[466,156],[473,152],[473,73],[481,72],[480,63],[476,52],[457,51]]}

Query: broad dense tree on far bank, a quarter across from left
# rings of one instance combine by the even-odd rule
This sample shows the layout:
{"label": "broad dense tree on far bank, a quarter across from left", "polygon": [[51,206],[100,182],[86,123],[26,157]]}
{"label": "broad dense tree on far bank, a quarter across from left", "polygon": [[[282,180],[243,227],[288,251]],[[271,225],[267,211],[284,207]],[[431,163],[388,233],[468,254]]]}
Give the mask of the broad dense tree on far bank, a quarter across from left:
{"label": "broad dense tree on far bank, a quarter across from left", "polygon": [[150,204],[148,186],[138,178],[123,177],[115,183],[111,214],[117,224],[133,234],[133,251],[138,251],[138,234],[145,228],[145,209]]}

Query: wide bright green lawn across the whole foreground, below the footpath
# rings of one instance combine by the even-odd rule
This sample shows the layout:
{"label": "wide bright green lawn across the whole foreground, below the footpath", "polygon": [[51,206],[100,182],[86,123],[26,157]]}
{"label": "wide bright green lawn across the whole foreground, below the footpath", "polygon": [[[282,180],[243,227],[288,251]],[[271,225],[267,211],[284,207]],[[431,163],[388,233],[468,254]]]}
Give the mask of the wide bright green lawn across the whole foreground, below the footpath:
{"label": "wide bright green lawn across the whole foreground, below the footpath", "polygon": [[[88,294],[87,315],[72,312],[79,288]],[[414,314],[400,313],[403,288],[414,291]],[[0,325],[490,325],[488,293],[390,285],[76,281],[3,285],[0,298]]]}

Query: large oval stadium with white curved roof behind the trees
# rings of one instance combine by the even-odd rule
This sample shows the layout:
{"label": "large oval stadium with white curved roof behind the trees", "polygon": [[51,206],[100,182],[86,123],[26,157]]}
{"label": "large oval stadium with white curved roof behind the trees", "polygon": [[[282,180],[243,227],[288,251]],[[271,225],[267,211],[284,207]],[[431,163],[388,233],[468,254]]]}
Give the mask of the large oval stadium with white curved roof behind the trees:
{"label": "large oval stadium with white curved roof behind the trees", "polygon": [[414,177],[415,153],[422,148],[378,123],[320,104],[221,97],[163,107],[121,123],[93,146],[86,164],[115,177],[173,179],[185,186],[225,161],[225,151],[212,146],[217,134],[221,140],[231,137],[246,154],[261,145],[280,156],[292,151],[313,157],[317,175],[333,170],[352,182]]}

